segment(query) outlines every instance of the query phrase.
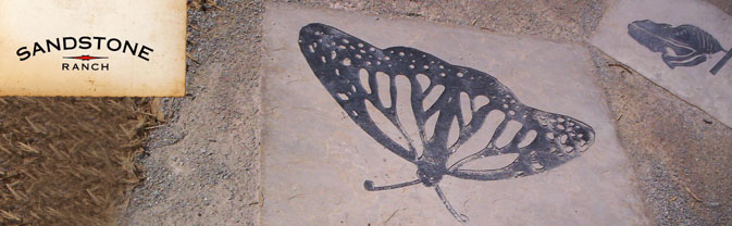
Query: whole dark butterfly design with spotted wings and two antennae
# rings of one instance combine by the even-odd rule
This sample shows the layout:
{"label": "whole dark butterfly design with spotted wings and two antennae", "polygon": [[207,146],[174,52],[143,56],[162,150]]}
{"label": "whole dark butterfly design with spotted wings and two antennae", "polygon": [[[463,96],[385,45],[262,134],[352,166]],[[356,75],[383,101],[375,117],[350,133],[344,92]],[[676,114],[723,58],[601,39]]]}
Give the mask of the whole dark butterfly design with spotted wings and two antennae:
{"label": "whole dark butterfly design with spotted wings and two antennae", "polygon": [[[467,222],[439,188],[444,176],[498,180],[534,175],[579,156],[594,141],[587,124],[524,105],[491,75],[430,53],[408,47],[382,50],[318,23],[302,27],[298,42],[310,68],[356,125],[417,165],[414,180],[389,186],[365,180],[369,191],[433,187],[450,214]],[[477,148],[463,150],[468,143]],[[497,156],[516,159],[503,167],[480,164]]]}

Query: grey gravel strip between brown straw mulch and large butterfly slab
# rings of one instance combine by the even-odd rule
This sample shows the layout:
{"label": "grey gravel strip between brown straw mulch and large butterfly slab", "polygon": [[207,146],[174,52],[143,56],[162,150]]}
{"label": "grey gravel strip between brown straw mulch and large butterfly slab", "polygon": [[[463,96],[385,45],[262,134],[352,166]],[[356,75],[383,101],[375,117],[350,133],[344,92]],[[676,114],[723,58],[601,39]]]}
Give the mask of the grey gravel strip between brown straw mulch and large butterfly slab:
{"label": "grey gravel strip between brown straw mulch and large butterfly slab", "polygon": [[259,200],[260,2],[188,15],[187,95],[165,99],[128,225],[255,225]]}

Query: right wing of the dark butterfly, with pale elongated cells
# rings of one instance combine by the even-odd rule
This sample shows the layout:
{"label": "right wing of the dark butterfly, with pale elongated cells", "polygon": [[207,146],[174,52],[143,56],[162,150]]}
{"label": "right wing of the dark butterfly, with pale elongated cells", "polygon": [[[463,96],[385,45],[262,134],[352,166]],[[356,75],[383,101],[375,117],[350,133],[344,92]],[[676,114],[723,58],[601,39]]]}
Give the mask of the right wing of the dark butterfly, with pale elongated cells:
{"label": "right wing of the dark butterfly, with pale elongated cells", "polygon": [[[475,87],[470,88],[470,97],[489,98],[487,104],[479,106],[479,112],[498,112],[503,117],[488,125],[489,115],[473,116],[482,120],[470,125],[473,127],[473,130],[467,131],[470,136],[464,136],[467,139],[456,148],[456,152],[471,154],[455,161],[448,167],[448,175],[476,180],[530,176],[579,156],[594,142],[595,131],[590,125],[566,115],[524,105],[510,89],[492,76],[476,70],[461,68],[466,75],[489,78],[491,88],[485,88],[480,81],[471,83]],[[511,124],[516,125],[516,129],[508,131]],[[499,143],[501,138],[508,140]],[[471,141],[477,143],[479,148],[468,147]],[[464,150],[470,148],[473,149]],[[511,155],[512,161],[499,167],[487,167],[485,163],[479,163],[509,154],[514,154]]]}

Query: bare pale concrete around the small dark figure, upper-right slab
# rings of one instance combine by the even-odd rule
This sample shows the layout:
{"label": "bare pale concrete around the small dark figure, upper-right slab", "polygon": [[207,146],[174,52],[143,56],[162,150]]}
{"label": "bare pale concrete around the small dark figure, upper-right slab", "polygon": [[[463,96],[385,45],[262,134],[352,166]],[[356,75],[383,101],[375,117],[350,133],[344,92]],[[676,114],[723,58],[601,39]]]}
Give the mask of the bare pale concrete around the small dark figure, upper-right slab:
{"label": "bare pale concrete around the small dark figure, upper-right slab", "polygon": [[709,73],[724,52],[710,54],[706,62],[696,66],[672,70],[661,61],[660,53],[649,51],[628,35],[628,24],[642,20],[672,26],[697,26],[729,50],[732,48],[732,17],[699,0],[619,0],[606,13],[591,41],[610,56],[732,126],[732,89],[729,88],[732,86],[732,63],[728,62],[717,75]]}

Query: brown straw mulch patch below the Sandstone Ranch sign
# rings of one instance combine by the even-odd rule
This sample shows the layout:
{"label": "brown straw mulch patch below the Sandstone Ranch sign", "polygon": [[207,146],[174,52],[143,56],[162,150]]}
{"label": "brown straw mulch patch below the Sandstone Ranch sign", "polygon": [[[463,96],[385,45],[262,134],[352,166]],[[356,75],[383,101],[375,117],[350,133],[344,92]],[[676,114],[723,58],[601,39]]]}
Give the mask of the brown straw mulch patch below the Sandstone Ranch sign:
{"label": "brown straw mulch patch below the Sandstone Ranch sign", "polygon": [[109,225],[141,181],[151,99],[0,98],[0,225]]}

